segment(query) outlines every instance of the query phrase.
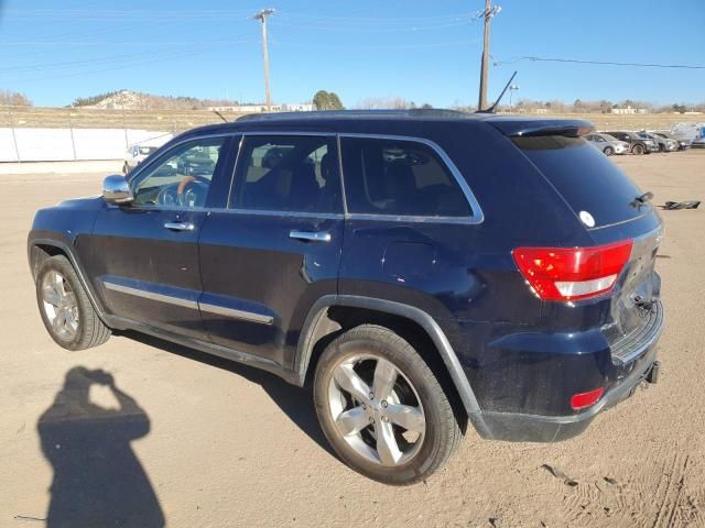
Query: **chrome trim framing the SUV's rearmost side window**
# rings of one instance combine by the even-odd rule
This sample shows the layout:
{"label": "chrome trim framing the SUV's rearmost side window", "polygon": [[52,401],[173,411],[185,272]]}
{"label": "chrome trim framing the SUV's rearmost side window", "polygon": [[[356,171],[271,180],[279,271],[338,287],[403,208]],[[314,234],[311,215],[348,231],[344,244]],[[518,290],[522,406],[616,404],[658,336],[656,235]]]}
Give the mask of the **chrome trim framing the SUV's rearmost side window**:
{"label": "chrome trim framing the SUV's rearmost side window", "polygon": [[[445,151],[434,141],[427,140],[425,138],[416,138],[411,135],[391,135],[391,134],[366,134],[366,133],[339,133],[338,141],[345,138],[352,139],[369,139],[369,140],[390,140],[390,141],[408,141],[421,143],[423,145],[432,148],[446,165],[451,174],[455,178],[458,187],[465,195],[465,199],[467,200],[470,210],[473,213],[469,217],[433,217],[433,216],[413,216],[413,215],[383,215],[383,213],[361,213],[361,212],[346,212],[346,218],[350,219],[360,219],[360,220],[386,220],[391,222],[426,222],[426,223],[463,223],[463,224],[478,224],[485,221],[485,213],[482,212],[482,208],[478,204],[473,190],[469,185],[460,174],[460,170],[456,167],[453,160],[445,153]],[[343,173],[343,150],[339,143],[338,147],[338,156],[340,160],[340,179],[343,180],[343,188],[345,188],[345,174]],[[347,200],[347,197],[346,197]]]}

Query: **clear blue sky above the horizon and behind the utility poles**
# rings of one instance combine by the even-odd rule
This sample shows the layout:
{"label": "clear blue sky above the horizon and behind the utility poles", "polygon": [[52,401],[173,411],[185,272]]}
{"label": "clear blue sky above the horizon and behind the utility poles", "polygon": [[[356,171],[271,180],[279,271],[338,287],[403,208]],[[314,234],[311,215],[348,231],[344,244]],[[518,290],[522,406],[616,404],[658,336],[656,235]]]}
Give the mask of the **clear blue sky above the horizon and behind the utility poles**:
{"label": "clear blue sky above the horizon and behind the utility poles", "polygon": [[[491,54],[705,65],[705,0],[495,0]],[[263,99],[259,23],[269,19],[272,97],[318,89],[346,106],[399,96],[475,105],[484,0],[0,0],[0,89],[39,106],[127,88]],[[513,69],[514,100],[705,100],[705,69],[518,61],[491,66],[496,97]]]}

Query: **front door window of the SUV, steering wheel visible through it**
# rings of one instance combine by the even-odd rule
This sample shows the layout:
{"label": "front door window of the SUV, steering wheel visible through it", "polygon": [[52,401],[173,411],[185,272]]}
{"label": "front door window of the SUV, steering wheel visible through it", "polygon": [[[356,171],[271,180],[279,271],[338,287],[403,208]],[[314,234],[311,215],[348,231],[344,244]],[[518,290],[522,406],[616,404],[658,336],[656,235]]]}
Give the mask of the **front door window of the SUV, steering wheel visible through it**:
{"label": "front door window of the SUV, steering wheel visible through it", "polygon": [[131,182],[137,206],[204,207],[226,138],[175,146]]}

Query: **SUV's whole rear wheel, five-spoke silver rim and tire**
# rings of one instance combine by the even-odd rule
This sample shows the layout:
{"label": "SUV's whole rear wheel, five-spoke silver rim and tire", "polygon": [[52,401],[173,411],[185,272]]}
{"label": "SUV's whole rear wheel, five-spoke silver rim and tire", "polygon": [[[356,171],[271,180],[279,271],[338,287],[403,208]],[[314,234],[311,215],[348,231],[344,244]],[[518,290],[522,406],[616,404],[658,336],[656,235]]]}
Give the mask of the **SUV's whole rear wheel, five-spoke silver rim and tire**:
{"label": "SUV's whole rear wheel, five-spoke silver rim and tire", "polygon": [[321,427],[340,459],[386,484],[426,479],[462,438],[429,365],[383,327],[362,324],[326,348],[316,367],[314,400]]}

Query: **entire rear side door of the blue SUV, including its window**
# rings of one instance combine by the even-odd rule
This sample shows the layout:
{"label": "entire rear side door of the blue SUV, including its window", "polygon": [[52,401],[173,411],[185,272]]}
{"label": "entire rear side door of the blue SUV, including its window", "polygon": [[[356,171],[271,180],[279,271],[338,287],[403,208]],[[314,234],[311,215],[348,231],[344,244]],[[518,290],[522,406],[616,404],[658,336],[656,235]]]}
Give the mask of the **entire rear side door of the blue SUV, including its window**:
{"label": "entire rear side door of the blue SUV, including its window", "polygon": [[311,306],[337,289],[337,166],[333,135],[245,135],[229,210],[214,210],[199,240],[213,341],[290,366]]}

